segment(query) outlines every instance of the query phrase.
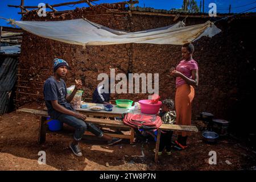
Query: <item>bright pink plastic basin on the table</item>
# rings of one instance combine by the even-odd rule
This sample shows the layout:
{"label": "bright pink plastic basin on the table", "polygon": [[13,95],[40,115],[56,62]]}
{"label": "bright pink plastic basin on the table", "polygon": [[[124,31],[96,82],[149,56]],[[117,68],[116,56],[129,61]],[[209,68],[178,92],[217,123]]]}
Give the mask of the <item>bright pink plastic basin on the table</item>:
{"label": "bright pink plastic basin on the table", "polygon": [[144,114],[157,114],[160,107],[162,106],[162,102],[158,101],[157,104],[151,104],[152,100],[140,100],[139,104],[141,104],[141,113]]}

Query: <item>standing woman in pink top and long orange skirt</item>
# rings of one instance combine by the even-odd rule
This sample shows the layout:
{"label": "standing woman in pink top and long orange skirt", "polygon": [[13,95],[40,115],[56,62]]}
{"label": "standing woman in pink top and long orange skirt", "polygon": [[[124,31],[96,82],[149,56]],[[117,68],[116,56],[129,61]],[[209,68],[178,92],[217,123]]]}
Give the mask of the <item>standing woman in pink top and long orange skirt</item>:
{"label": "standing woman in pink top and long orange skirt", "polygon": [[[184,44],[181,48],[182,60],[176,69],[171,68],[170,75],[176,77],[175,109],[177,125],[191,125],[191,102],[195,96],[193,87],[198,85],[198,65],[193,60],[194,46]],[[190,133],[177,132],[175,141],[177,147],[187,148],[187,138]]]}

